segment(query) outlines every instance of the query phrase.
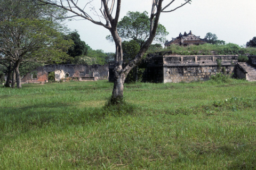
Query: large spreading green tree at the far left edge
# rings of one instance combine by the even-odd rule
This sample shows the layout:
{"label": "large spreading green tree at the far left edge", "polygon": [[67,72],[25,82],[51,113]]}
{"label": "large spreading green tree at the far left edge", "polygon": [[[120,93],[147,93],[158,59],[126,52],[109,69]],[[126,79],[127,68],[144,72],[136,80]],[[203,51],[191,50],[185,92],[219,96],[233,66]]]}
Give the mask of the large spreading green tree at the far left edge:
{"label": "large spreading green tree at the far left edge", "polygon": [[1,2],[0,52],[4,54],[1,60],[13,63],[17,88],[21,88],[21,63],[61,61],[67,56],[71,41],[63,39],[59,32],[61,25],[43,15],[42,7],[18,0]]}

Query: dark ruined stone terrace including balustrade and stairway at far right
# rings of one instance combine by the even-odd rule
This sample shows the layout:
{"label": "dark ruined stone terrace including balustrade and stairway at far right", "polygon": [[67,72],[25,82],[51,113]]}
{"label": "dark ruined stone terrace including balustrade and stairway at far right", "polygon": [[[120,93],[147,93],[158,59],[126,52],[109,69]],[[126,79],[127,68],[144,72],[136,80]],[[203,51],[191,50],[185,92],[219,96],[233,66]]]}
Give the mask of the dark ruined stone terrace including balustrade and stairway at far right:
{"label": "dark ruined stone terrace including balustrade and stairway at far right", "polygon": [[[256,56],[249,56],[251,65],[237,62],[238,55],[172,55],[159,52],[147,56],[143,82],[206,81],[222,73],[239,79],[256,81]],[[109,63],[109,81],[114,81],[114,63]]]}

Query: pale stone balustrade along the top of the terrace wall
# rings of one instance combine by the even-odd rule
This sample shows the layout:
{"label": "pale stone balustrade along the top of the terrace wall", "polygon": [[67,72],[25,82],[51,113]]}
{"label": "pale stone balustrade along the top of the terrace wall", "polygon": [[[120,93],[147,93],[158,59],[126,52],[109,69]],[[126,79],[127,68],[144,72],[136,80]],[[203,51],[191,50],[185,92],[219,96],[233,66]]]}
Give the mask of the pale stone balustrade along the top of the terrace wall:
{"label": "pale stone balustrade along the top of the terrace wall", "polygon": [[237,55],[163,56],[164,64],[216,63],[216,60],[220,60],[221,62],[235,62],[237,61]]}

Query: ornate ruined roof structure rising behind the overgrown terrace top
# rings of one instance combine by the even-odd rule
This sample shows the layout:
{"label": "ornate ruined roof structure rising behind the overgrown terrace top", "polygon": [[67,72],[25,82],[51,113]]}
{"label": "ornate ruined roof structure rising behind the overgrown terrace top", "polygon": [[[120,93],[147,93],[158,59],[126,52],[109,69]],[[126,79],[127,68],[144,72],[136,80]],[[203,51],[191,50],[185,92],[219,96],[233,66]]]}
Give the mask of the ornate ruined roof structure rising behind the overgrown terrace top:
{"label": "ornate ruined roof structure rising behind the overgrown terrace top", "polygon": [[200,38],[200,36],[195,36],[190,31],[189,33],[184,32],[183,35],[180,33],[179,37],[172,38],[171,41],[167,40],[165,42],[164,46],[168,47],[172,44],[183,45],[183,46],[199,45],[199,44],[205,44],[207,42],[208,42],[207,39],[202,39],[202,38]]}

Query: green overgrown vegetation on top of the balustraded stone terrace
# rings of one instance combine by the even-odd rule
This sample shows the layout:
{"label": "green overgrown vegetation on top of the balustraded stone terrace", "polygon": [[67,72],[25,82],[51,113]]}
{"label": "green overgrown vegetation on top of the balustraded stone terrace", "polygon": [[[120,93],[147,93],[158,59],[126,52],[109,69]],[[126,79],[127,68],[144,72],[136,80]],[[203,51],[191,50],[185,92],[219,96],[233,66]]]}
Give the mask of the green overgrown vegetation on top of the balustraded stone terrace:
{"label": "green overgrown vegetation on top of the balustraded stone terrace", "polygon": [[226,45],[203,44],[198,46],[171,45],[170,47],[165,48],[164,50],[171,51],[172,54],[178,54],[178,55],[212,55],[213,53],[217,55],[234,55],[234,54],[256,55],[256,48],[242,48],[232,43],[229,43]]}

